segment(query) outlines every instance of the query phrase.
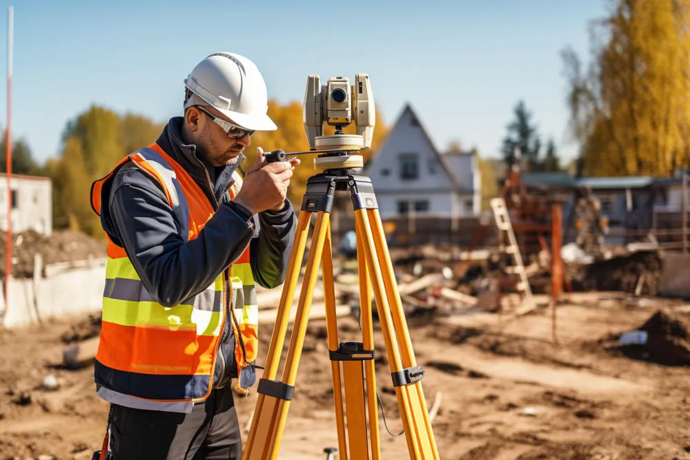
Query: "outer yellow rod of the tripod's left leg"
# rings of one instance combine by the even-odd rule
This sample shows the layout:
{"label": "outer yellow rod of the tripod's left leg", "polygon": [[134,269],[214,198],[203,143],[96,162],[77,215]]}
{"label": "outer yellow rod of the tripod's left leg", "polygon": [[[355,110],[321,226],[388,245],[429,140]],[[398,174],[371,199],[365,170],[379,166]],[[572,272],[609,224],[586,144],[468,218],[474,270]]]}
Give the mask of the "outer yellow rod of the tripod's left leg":
{"label": "outer yellow rod of the tripod's left leg", "polygon": [[[295,232],[295,243],[293,244],[293,250],[290,253],[290,265],[288,266],[288,272],[286,274],[286,283],[283,285],[283,292],[280,297],[278,314],[275,319],[275,325],[273,326],[273,334],[270,338],[268,354],[266,355],[266,369],[264,370],[264,374],[262,376],[264,379],[275,379],[275,374],[277,372],[280,355],[283,350],[285,332],[288,328],[288,322],[290,319],[290,310],[292,309],[293,301],[295,299],[295,288],[297,287],[297,281],[299,280],[299,269],[302,267],[304,248],[306,247],[306,239],[309,234],[311,214],[312,213],[308,211],[302,211],[299,213],[297,230]],[[264,410],[263,406],[264,394],[259,393],[257,404],[254,410],[255,416],[253,417],[252,425],[247,437],[246,449],[243,455],[244,459],[248,459],[248,452],[253,450],[254,439],[257,426],[259,424],[259,414],[262,414]],[[273,409],[275,409],[275,407],[273,407]],[[270,412],[273,413],[273,410],[270,410]],[[267,414],[264,418],[272,419],[273,417]]]}

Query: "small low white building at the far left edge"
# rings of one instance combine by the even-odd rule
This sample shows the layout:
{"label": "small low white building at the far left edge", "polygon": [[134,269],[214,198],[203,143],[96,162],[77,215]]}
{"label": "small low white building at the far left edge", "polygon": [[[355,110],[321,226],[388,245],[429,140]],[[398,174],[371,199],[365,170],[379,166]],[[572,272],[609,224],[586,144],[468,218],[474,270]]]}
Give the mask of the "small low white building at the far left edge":
{"label": "small low white building at the far left edge", "polygon": [[12,232],[52,232],[52,182],[48,177],[12,174],[8,197],[7,175],[0,173],[0,230],[8,228],[8,199],[12,203]]}

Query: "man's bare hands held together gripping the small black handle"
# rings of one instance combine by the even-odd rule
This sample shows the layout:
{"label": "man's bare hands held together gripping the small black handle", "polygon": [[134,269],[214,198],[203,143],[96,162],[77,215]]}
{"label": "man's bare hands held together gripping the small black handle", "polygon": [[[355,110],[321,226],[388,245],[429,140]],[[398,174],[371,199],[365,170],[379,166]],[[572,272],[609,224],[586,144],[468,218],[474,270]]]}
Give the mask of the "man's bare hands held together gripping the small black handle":
{"label": "man's bare hands held together gripping the small black handle", "polygon": [[264,150],[257,148],[257,161],[247,170],[235,203],[241,204],[252,214],[265,210],[282,210],[290,177],[297,165],[299,159],[268,163]]}

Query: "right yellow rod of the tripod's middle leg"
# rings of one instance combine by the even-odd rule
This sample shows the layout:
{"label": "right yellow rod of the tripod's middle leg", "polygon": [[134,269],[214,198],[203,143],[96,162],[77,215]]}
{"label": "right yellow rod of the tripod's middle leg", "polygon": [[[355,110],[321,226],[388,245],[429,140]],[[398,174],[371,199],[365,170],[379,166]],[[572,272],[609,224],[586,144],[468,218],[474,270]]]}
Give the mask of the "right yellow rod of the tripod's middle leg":
{"label": "right yellow rod of the tripod's middle leg", "polygon": [[[371,280],[366,269],[364,235],[357,233],[357,274],[359,274],[359,312],[362,318],[362,344],[366,350],[374,349],[374,331],[371,325]],[[371,458],[380,460],[381,444],[379,436],[379,413],[376,405],[376,370],[374,360],[364,363],[366,370],[366,401],[369,409],[369,437],[371,439]]]}

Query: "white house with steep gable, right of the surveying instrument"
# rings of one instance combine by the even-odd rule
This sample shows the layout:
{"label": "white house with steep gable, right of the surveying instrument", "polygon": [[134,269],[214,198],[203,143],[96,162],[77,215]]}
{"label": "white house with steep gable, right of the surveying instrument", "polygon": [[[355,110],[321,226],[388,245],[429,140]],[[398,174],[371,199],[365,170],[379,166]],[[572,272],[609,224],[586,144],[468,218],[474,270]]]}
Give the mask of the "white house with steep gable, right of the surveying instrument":
{"label": "white house with steep gable, right of the surveying instrument", "polygon": [[480,213],[481,179],[474,154],[442,154],[408,104],[386,143],[366,166],[382,217]]}

